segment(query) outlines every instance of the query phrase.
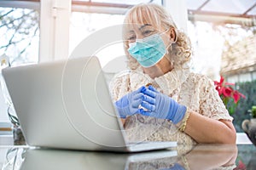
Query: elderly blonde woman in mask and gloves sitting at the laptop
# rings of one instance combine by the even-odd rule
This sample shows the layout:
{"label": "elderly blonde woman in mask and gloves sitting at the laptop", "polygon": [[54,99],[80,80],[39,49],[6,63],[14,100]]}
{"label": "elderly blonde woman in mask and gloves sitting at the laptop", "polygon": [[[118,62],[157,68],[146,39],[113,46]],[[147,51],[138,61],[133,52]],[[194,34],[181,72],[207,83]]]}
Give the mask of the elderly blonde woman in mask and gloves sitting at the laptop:
{"label": "elderly blonde woman in mask and gloves sitting at the laptop", "polygon": [[236,143],[232,117],[212,80],[189,71],[189,37],[159,5],[139,4],[125,17],[130,70],[110,83],[131,141]]}

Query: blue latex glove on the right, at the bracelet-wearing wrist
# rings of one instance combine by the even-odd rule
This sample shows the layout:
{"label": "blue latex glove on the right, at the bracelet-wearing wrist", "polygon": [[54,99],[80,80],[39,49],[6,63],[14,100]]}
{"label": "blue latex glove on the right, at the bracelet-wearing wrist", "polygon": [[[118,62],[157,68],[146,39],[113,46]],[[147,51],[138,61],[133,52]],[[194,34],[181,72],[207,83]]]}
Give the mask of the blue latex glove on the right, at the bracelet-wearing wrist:
{"label": "blue latex glove on the right, at the bracelet-wearing wrist", "polygon": [[169,119],[174,124],[183,120],[187,108],[184,105],[179,105],[174,99],[165,94],[159,93],[152,86],[143,88],[143,103],[142,106],[148,111],[143,111],[141,114],[145,116],[153,116],[161,119]]}

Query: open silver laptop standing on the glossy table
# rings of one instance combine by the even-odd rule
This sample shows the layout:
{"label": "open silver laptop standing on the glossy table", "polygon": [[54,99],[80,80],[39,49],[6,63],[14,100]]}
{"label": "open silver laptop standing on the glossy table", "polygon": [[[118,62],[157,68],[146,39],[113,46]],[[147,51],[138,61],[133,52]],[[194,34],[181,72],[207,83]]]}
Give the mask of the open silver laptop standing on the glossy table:
{"label": "open silver laptop standing on the glossy table", "polygon": [[177,146],[125,139],[95,56],[6,68],[3,77],[30,146],[120,152]]}

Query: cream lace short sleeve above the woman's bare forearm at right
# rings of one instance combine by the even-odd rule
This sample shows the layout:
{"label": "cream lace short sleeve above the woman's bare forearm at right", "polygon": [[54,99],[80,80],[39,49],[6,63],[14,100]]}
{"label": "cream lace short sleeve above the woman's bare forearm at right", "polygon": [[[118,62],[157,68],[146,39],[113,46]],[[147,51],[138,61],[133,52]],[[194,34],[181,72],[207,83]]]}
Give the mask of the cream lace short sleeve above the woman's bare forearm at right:
{"label": "cream lace short sleeve above the woman's bare forearm at right", "polygon": [[232,121],[233,117],[231,117],[229,112],[226,110],[225,105],[222,99],[220,99],[218,91],[215,89],[212,80],[207,77],[202,77],[201,84],[201,115],[205,115],[216,120],[224,119]]}

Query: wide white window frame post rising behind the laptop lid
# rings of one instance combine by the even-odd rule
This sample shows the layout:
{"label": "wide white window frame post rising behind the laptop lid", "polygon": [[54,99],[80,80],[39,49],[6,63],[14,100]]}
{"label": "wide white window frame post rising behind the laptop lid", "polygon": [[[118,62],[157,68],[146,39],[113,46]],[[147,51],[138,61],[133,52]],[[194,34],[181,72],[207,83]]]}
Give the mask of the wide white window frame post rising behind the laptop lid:
{"label": "wide white window frame post rising behind the laptop lid", "polygon": [[39,62],[67,59],[71,0],[41,1]]}

